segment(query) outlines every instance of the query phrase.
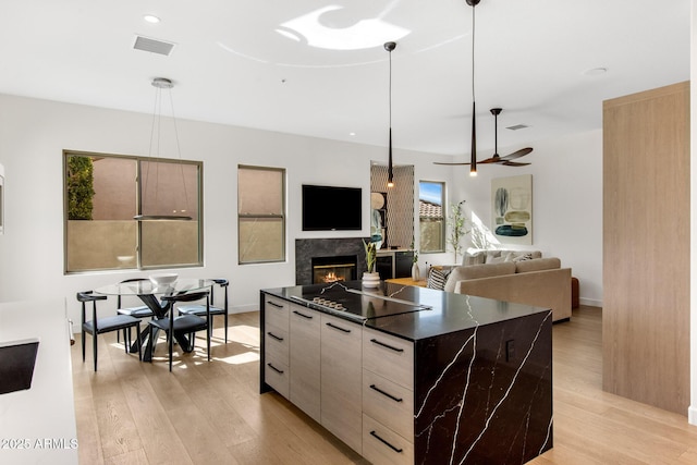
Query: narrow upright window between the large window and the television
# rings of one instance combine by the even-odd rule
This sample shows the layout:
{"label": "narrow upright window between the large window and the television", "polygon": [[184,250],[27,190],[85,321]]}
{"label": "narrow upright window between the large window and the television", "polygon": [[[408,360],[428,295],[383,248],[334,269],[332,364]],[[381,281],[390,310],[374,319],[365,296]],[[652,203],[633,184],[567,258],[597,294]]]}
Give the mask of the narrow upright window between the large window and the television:
{"label": "narrow upright window between the large window and the television", "polygon": [[240,264],[285,260],[285,170],[237,167]]}

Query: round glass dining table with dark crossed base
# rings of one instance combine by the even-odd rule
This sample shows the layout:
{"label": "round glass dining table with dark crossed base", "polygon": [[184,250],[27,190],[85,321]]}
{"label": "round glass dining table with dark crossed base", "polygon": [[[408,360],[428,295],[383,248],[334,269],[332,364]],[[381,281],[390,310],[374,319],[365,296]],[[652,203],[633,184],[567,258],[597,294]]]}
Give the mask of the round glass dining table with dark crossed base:
{"label": "round glass dining table with dark crossed base", "polygon": [[[120,282],[115,284],[107,284],[100,287],[96,287],[94,292],[96,294],[103,295],[121,295],[121,296],[137,296],[143,301],[145,305],[152,310],[154,318],[161,319],[169,317],[172,310],[172,302],[162,302],[160,296],[171,296],[178,294],[186,294],[195,291],[203,291],[211,287],[215,284],[209,279],[196,279],[196,278],[180,278],[172,283],[164,285],[156,285],[148,279]],[[154,333],[154,340],[157,341],[158,331]],[[138,352],[138,345],[140,342],[145,342],[143,351],[143,359],[150,362],[152,359],[152,352],[155,350],[154,341],[149,338],[150,328],[149,325],[140,331],[139,340],[136,340],[131,346],[131,352]],[[188,341],[186,334],[174,333],[176,343],[182,347],[184,352],[192,352],[194,350],[193,341]]]}

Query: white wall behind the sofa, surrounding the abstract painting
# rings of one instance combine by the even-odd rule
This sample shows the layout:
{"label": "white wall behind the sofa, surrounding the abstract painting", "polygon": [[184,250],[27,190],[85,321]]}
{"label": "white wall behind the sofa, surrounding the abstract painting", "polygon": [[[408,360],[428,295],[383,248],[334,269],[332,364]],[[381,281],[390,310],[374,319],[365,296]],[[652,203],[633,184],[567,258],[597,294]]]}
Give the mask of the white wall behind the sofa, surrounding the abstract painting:
{"label": "white wall behind the sofa, surrounding the abstract painting", "polygon": [[[599,109],[598,111],[601,111]],[[519,161],[528,167],[479,166],[456,172],[453,200],[467,200],[484,224],[491,225],[491,180],[533,174],[533,245],[542,256],[559,257],[579,280],[580,303],[602,306],[602,131],[531,143],[534,151]],[[505,156],[519,147],[499,147]],[[491,156],[480,154],[479,159]],[[449,254],[449,262],[453,255]]]}

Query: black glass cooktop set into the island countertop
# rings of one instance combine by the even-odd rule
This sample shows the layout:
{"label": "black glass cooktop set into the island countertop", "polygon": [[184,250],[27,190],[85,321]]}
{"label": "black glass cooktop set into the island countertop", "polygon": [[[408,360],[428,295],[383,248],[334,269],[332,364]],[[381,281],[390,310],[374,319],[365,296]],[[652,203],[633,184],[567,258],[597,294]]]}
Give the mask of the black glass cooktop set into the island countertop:
{"label": "black glass cooktop set into the island countertop", "polygon": [[302,295],[290,297],[309,308],[362,321],[431,309],[427,305],[384,295],[380,290],[352,287],[344,283],[303,286]]}

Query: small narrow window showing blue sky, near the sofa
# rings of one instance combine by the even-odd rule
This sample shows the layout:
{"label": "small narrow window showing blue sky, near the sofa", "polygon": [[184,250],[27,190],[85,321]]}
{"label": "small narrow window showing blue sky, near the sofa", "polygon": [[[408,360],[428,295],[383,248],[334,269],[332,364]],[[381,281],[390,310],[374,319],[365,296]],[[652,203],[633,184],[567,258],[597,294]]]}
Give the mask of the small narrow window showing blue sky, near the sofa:
{"label": "small narrow window showing blue sky, near the sofa", "polygon": [[445,252],[445,183],[418,182],[419,252]]}

